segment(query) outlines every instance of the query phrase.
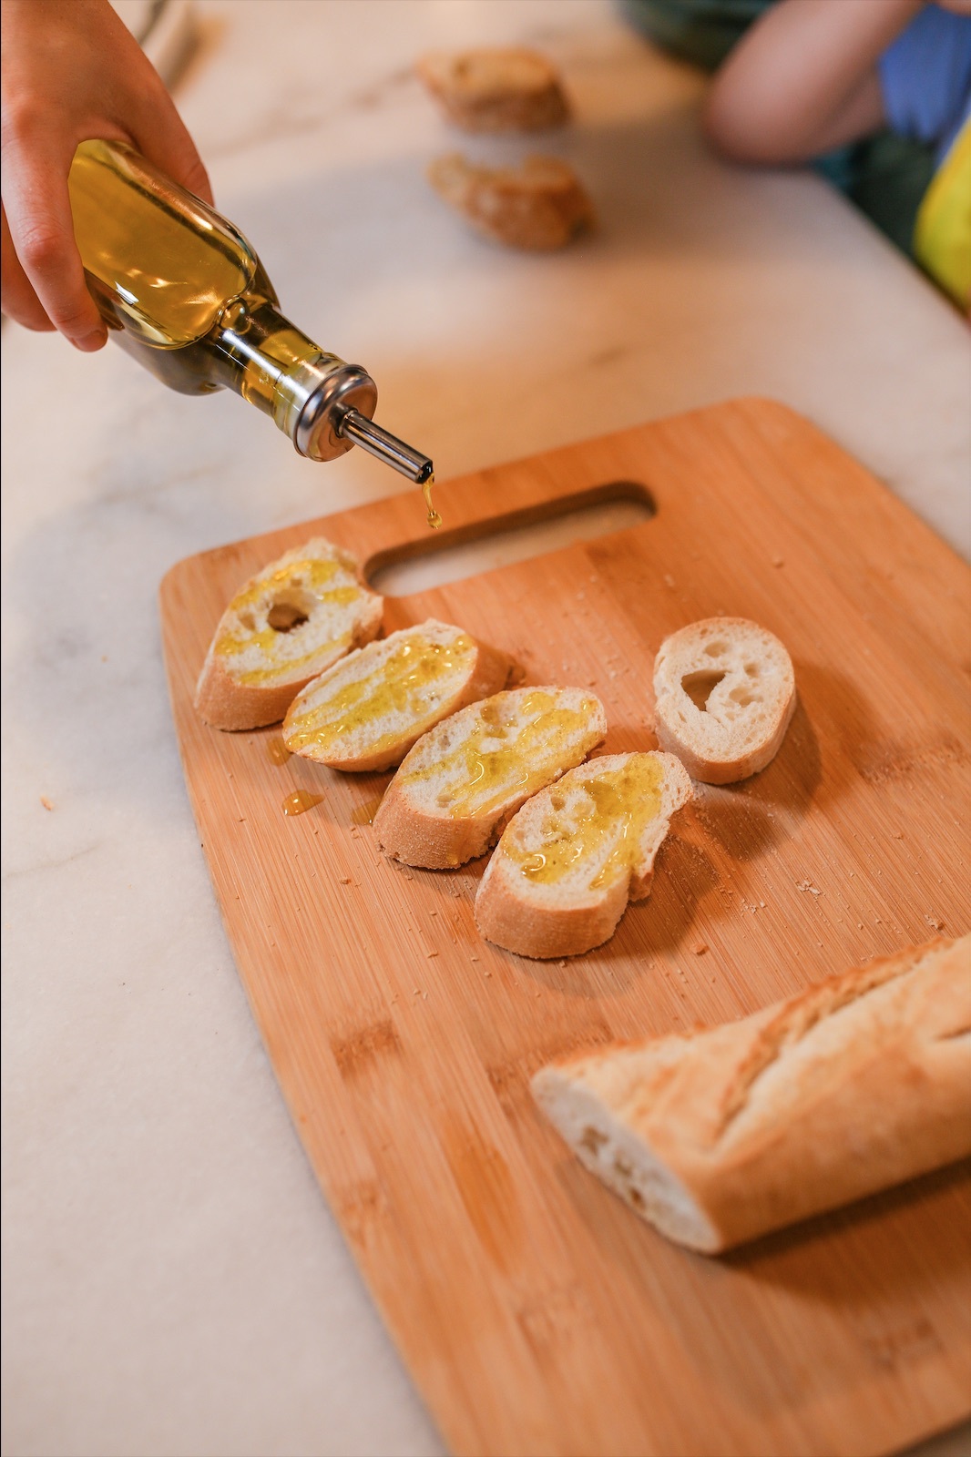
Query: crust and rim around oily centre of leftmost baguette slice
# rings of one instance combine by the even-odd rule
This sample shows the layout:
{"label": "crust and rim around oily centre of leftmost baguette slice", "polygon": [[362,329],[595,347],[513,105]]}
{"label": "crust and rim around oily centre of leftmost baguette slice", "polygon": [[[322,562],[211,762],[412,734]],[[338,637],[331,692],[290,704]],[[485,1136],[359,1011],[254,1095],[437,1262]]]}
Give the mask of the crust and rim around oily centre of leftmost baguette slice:
{"label": "crust and rim around oily centre of leftmost baguette slice", "polygon": [[[226,661],[217,651],[217,644],[223,632],[230,627],[239,627],[236,603],[246,593],[260,589],[268,577],[284,570],[289,564],[300,558],[338,559],[346,571],[353,577],[360,589],[360,599],[354,603],[354,612],[347,615],[348,635],[344,643],[335,645],[328,657],[321,657],[311,672],[296,669],[289,676],[277,676],[274,682],[254,685],[241,682],[226,667]],[[357,561],[350,552],[338,551],[324,538],[313,538],[302,546],[292,548],[268,562],[261,571],[249,577],[233,594],[233,600],[223,612],[213,640],[206,653],[198,683],[195,685],[195,711],[211,728],[222,728],[227,733],[241,733],[246,728],[264,728],[267,724],[280,723],[287,708],[309,682],[340,661],[354,648],[372,643],[381,631],[385,599],[372,592],[360,574]]]}

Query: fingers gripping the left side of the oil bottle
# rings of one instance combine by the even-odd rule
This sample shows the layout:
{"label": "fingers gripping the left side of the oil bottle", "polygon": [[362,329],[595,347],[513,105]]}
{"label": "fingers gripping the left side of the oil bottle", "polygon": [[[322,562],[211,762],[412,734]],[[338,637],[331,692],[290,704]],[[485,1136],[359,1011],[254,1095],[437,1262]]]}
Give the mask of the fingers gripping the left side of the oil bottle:
{"label": "fingers gripping the left side of the oil bottle", "polygon": [[[36,136],[28,146],[12,138],[3,147],[4,306],[10,281],[10,307],[22,310],[20,322],[26,322],[28,328],[44,328],[36,312],[39,307],[76,348],[90,351],[102,347],[108,331],[87,291],[74,242],[67,195],[70,162],[70,156],[58,154]],[[19,271],[15,267],[17,259]],[[31,302],[31,293],[36,306]]]}

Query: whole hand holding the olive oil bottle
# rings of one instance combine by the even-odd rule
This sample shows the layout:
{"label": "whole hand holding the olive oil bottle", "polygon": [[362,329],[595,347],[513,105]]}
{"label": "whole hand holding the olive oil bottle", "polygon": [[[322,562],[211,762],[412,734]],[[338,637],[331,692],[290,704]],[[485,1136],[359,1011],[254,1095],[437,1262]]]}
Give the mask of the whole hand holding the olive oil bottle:
{"label": "whole hand holding the olive oil bottle", "polygon": [[1,0],[3,312],[99,350],[67,173],[80,141],[127,141],[211,203],[206,169],[157,71],[108,0]]}

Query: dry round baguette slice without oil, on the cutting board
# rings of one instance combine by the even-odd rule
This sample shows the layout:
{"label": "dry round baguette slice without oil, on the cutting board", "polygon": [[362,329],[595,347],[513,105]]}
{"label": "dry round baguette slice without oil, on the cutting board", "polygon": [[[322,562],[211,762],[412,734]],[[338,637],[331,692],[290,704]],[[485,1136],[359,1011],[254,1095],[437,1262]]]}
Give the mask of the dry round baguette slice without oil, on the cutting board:
{"label": "dry round baguette slice without oil, on the cutting board", "polygon": [[658,740],[693,779],[758,774],[796,708],[789,653],[746,618],[704,618],[665,638],[655,659]]}

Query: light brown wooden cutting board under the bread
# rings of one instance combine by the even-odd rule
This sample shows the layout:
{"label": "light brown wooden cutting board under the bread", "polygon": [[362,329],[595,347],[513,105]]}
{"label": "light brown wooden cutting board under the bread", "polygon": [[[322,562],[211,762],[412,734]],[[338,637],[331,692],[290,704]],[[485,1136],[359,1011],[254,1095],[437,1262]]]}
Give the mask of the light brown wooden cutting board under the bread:
{"label": "light brown wooden cutting board under the bread", "polygon": [[[620,482],[620,484],[617,484]],[[698,787],[650,899],[589,956],[483,943],[484,861],[405,870],[388,775],[271,759],[191,695],[236,587],[315,533],[381,565],[639,497],[633,529],[414,596],[592,686],[605,750],[653,747],[674,628],[754,618],[799,708],[748,782]],[[324,1193],[446,1442],[467,1454],[866,1454],[971,1409],[971,1180],[932,1174],[722,1259],[643,1224],[567,1152],[528,1078],[618,1037],[739,1017],[971,925],[965,565],[806,421],[741,401],[204,552],[162,586],[185,778],[239,975]],[[295,790],[319,796],[299,817]]]}

